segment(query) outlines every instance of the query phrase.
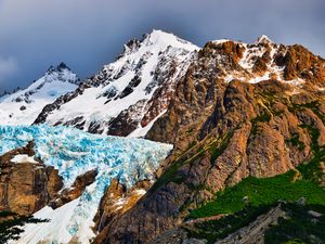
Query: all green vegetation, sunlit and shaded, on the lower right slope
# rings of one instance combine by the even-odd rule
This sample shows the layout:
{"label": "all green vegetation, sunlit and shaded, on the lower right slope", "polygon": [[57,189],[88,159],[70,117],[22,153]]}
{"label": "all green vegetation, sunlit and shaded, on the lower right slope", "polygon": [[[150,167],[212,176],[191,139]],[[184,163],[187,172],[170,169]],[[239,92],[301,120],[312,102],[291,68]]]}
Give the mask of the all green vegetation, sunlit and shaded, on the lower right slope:
{"label": "all green vegetation, sunlit and shaded, on the lower right slope", "polygon": [[[266,116],[253,121],[264,120]],[[313,157],[301,164],[295,170],[272,178],[248,177],[238,184],[218,192],[216,198],[190,213],[187,219],[197,219],[226,214],[219,220],[198,221],[194,230],[188,230],[191,236],[206,239],[213,243],[229,233],[247,226],[258,216],[266,213],[278,201],[286,201],[282,209],[286,218],[280,218],[278,223],[268,229],[266,244],[302,244],[325,242],[325,190],[320,187],[324,172],[320,164],[325,162],[325,147],[317,144],[320,132],[311,125],[302,125],[309,131],[312,142]],[[294,134],[288,141],[295,146],[302,146],[299,136]],[[297,204],[303,197],[306,206]],[[308,211],[322,213],[314,218]]]}

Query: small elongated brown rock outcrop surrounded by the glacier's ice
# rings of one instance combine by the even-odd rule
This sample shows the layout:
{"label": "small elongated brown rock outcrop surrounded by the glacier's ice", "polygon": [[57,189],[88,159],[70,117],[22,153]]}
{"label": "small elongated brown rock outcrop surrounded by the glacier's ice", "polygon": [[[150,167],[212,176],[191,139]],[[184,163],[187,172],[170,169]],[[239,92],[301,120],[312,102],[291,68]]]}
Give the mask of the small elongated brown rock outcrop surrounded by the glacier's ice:
{"label": "small elongated brown rock outcrop surrounded by the glacier's ice", "polygon": [[49,205],[55,209],[78,198],[84,191],[86,187],[94,182],[96,175],[96,170],[90,170],[78,176],[73,185],[62,190],[60,194],[56,194],[55,198],[53,198]]}

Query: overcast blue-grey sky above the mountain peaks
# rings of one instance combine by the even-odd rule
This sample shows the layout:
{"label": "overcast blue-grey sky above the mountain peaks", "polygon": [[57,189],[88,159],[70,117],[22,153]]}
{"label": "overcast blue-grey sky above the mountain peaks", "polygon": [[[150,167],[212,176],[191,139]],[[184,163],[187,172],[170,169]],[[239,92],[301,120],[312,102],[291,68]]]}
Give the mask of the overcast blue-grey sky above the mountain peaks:
{"label": "overcast blue-grey sky above the mountain peaks", "polygon": [[0,91],[64,61],[81,78],[153,28],[198,46],[265,34],[325,56],[324,0],[0,0]]}

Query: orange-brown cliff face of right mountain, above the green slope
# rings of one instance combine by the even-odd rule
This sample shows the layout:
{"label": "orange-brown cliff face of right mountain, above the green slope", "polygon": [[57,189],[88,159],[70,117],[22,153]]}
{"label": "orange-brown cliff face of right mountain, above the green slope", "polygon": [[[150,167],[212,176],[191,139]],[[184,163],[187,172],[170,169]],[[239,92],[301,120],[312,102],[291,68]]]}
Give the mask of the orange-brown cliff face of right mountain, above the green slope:
{"label": "orange-brown cliff face of right mountain, above the green slope", "polygon": [[301,46],[208,42],[146,134],[173,143],[173,154],[148,193],[107,223],[103,243],[148,243],[217,191],[308,160],[309,129],[325,143],[324,72],[324,60]]}

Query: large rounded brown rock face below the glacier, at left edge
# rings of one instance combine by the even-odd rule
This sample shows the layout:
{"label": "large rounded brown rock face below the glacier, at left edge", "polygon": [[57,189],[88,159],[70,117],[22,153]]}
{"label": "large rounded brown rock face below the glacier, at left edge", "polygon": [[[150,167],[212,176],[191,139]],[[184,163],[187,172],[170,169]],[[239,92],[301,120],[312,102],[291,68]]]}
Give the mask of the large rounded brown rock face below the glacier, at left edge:
{"label": "large rounded brown rock face below the glacier, at left edge", "polygon": [[63,180],[53,167],[38,163],[12,163],[15,155],[34,156],[34,143],[0,156],[0,210],[30,215],[44,207],[62,189]]}

